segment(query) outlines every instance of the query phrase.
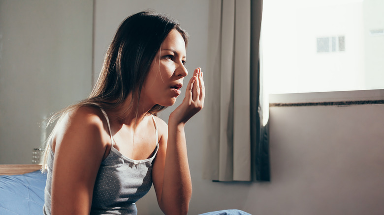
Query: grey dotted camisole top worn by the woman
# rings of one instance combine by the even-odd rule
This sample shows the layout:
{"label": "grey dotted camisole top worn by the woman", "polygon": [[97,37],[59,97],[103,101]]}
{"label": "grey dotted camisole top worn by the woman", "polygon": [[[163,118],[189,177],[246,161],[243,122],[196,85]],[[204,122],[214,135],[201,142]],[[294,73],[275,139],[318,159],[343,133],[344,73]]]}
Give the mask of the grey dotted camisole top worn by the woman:
{"label": "grey dotted camisole top worn by the woman", "polygon": [[158,145],[152,158],[141,161],[131,161],[112,150],[101,162],[97,173],[92,211],[105,212],[119,208],[121,214],[136,214],[134,203],[152,186],[152,161],[157,149]]}

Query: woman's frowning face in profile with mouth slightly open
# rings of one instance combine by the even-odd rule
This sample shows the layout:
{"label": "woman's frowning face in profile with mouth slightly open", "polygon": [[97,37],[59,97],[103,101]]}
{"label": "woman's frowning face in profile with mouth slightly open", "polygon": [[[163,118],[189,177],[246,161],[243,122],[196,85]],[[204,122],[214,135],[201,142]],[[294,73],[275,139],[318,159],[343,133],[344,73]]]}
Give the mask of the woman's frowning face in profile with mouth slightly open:
{"label": "woman's frowning face in profile with mouth slightly open", "polygon": [[185,62],[184,39],[177,30],[172,29],[152,61],[140,100],[165,107],[175,104],[176,98],[181,94],[183,79],[188,75]]}

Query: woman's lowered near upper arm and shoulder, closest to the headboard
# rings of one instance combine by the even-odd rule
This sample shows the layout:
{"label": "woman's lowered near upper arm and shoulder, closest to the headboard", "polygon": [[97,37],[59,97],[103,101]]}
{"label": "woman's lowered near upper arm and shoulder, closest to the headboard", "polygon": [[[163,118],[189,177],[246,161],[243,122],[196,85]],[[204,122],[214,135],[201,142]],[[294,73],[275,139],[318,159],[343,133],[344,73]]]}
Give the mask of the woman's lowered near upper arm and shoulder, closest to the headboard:
{"label": "woman's lowered near upper arm and shoulder, closest to the headboard", "polygon": [[106,148],[103,123],[95,110],[68,113],[53,139],[52,212],[89,214],[96,175]]}

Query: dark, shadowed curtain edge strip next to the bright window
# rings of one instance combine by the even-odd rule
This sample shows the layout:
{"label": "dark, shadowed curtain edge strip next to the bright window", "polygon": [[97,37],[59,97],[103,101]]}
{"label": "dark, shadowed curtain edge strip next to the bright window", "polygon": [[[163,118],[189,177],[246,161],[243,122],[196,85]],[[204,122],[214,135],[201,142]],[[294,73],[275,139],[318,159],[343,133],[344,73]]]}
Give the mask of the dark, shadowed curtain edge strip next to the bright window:
{"label": "dark, shadowed curtain edge strip next to the bright window", "polygon": [[263,90],[260,32],[262,0],[251,0],[251,151],[254,181],[270,181],[269,102]]}

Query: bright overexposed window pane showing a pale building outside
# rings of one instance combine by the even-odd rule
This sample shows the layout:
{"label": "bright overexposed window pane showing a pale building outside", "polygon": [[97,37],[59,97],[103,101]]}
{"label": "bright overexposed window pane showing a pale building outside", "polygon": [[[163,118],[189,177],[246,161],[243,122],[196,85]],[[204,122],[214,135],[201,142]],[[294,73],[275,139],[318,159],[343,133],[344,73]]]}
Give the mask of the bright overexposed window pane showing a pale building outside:
{"label": "bright overexposed window pane showing a pale building outside", "polygon": [[384,89],[383,0],[265,0],[267,93]]}

